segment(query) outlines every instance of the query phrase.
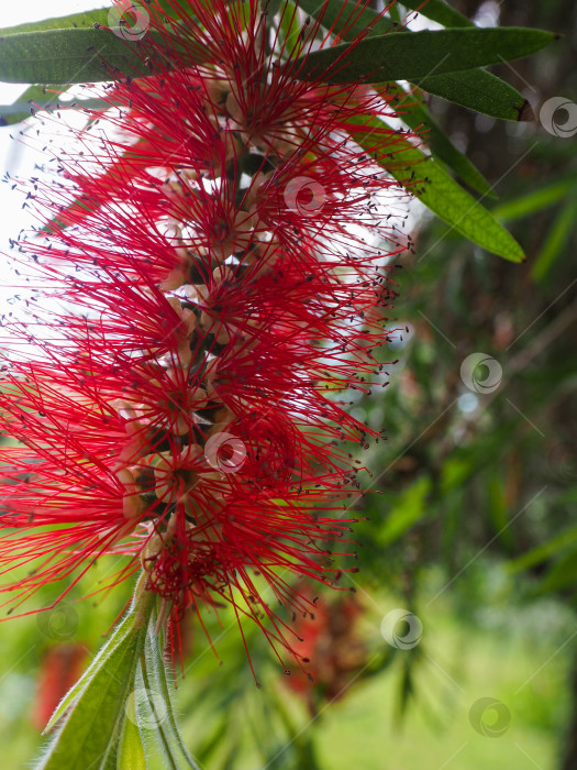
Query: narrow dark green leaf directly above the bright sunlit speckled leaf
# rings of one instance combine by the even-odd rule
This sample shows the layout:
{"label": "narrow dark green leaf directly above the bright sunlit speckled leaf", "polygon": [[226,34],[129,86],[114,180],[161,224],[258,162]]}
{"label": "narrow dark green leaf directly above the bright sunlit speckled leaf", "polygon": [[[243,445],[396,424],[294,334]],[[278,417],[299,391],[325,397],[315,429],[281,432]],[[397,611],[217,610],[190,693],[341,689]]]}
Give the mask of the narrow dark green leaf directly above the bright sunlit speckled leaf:
{"label": "narrow dark green leaf directly above the bright sunlit speckled leaf", "polygon": [[490,184],[482,176],[478,168],[464,155],[461,150],[457,150],[448,136],[442,131],[431,118],[431,114],[424,105],[415,105],[414,99],[419,98],[414,94],[404,94],[399,87],[399,92],[402,94],[402,99],[395,102],[399,106],[408,105],[407,110],[400,110],[400,119],[411,129],[426,131],[424,141],[430,147],[434,157],[443,161],[452,168],[469,187],[477,190],[489,198],[497,198],[492,191]]}

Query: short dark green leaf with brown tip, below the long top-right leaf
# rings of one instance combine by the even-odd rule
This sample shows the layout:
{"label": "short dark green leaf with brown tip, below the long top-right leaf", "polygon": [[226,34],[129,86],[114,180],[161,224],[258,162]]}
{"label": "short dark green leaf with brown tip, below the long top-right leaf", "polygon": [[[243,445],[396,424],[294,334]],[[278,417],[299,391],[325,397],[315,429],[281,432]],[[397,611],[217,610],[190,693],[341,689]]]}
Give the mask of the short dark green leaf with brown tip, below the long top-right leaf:
{"label": "short dark green leaf with brown tip, below the long top-right leaf", "polygon": [[485,69],[431,75],[417,85],[428,94],[491,118],[529,121],[534,117],[530,103],[517,88]]}

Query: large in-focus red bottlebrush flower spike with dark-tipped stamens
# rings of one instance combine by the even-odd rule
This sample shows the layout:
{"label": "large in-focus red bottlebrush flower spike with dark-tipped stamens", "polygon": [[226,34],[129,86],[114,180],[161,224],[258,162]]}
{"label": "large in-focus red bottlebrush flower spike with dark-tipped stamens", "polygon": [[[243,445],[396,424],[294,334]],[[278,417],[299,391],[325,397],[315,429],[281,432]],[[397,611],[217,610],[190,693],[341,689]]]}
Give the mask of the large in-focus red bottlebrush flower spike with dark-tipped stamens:
{"label": "large in-focus red bottlebrush flower spike with dark-tipped stamens", "polygon": [[355,447],[378,438],[339,394],[381,384],[384,265],[407,242],[355,136],[393,112],[386,90],[299,79],[319,22],[291,51],[256,0],[169,6],[168,26],[148,6],[149,76],[111,82],[29,195],[51,224],[12,257],[0,565],[34,570],[4,590],[65,594],[124,554],[112,582],[142,565],[174,622],[224,600],[293,651],[277,602],[311,609],[295,575],[330,584],[353,553]]}

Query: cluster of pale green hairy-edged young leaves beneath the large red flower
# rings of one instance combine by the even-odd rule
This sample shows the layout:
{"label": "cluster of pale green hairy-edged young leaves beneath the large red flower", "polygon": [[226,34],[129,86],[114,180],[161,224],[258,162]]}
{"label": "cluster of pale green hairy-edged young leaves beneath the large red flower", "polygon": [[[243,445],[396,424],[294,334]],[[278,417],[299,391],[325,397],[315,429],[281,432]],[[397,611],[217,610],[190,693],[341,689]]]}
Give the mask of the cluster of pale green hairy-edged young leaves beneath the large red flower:
{"label": "cluster of pale green hairy-edged young leaves beneath the large red flower", "polygon": [[57,726],[56,734],[35,770],[146,770],[158,752],[162,767],[198,770],[174,716],[155,630],[156,597],[136,595],[53,715],[47,729]]}

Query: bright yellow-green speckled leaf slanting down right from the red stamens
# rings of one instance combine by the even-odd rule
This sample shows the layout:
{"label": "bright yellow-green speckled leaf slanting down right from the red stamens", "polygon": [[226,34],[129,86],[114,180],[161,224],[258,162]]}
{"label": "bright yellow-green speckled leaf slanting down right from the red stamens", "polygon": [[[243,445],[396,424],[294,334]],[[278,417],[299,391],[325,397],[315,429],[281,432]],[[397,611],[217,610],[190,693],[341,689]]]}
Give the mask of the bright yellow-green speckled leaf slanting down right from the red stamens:
{"label": "bright yellow-green speckled leaf slanting down right from the red stamens", "polygon": [[[523,250],[514,238],[434,160],[426,160],[420,150],[399,138],[398,145],[401,148],[395,154],[392,163],[390,156],[380,150],[379,130],[387,128],[384,121],[363,118],[351,121],[346,128],[365,150],[376,155],[378,163],[401,185],[418,195],[421,202],[451,226],[452,230],[506,260],[524,260]],[[424,182],[415,187],[409,184],[412,177]]]}

